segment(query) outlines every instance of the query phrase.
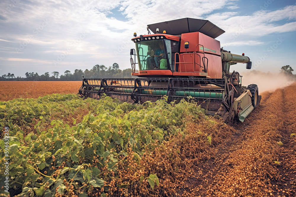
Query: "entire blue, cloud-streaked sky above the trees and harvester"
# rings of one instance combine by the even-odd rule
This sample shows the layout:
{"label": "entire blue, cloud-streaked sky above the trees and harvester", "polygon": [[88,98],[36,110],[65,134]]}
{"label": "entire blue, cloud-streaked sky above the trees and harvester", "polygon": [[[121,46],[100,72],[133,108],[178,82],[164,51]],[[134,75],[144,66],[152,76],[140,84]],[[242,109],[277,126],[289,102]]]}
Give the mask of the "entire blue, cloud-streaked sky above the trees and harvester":
{"label": "entire blue, cloud-streaked sky above the trees and harvester", "polygon": [[[147,34],[147,24],[185,17],[222,28],[221,47],[245,53],[252,69],[278,72],[290,65],[296,73],[295,1],[2,0],[0,76],[73,73],[115,62],[131,68],[133,32]],[[232,69],[245,71],[245,64]]]}

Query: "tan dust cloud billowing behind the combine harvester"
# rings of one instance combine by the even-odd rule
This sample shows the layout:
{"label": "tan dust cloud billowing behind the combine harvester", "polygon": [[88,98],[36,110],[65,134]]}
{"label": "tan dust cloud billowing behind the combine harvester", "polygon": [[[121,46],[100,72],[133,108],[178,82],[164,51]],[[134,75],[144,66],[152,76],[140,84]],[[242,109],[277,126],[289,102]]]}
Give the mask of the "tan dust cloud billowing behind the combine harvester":
{"label": "tan dust cloud billowing behind the combine harvester", "polygon": [[242,85],[257,84],[259,93],[265,91],[273,92],[278,88],[283,88],[296,82],[295,78],[282,73],[272,74],[270,72],[265,73],[253,70],[240,74],[243,76]]}

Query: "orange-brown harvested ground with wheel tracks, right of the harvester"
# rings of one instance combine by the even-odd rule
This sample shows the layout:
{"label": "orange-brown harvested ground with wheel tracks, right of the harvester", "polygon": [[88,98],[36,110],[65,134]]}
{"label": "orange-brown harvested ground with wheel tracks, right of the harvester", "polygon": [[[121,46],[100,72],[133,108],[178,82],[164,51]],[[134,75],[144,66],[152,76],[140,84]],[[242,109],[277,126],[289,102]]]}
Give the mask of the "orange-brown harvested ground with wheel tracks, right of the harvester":
{"label": "orange-brown harvested ground with wheel tracks, right of the harvester", "polygon": [[263,92],[243,124],[229,125],[235,130],[232,144],[215,147],[212,165],[199,165],[197,171],[209,176],[191,183],[194,192],[184,196],[296,196],[296,140],[290,138],[296,130],[295,89],[292,84]]}

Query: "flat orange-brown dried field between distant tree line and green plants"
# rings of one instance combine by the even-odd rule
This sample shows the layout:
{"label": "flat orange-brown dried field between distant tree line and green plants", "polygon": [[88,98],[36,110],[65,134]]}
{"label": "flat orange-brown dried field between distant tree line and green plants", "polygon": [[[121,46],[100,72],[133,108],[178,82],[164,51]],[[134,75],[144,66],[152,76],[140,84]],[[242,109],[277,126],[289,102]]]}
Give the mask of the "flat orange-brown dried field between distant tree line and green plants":
{"label": "flat orange-brown dried field between distant tree line and green plants", "polygon": [[0,101],[38,98],[49,94],[77,94],[81,81],[0,81]]}

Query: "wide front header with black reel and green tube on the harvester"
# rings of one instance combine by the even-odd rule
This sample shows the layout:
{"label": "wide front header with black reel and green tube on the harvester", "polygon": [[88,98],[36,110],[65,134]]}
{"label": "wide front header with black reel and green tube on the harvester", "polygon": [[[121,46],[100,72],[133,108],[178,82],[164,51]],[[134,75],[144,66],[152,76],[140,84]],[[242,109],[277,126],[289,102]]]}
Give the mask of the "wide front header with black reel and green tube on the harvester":
{"label": "wide front header with black reel and green tube on the harvester", "polygon": [[[226,85],[225,85],[226,84]],[[192,99],[208,115],[221,115],[226,122],[233,120],[235,89],[225,76],[223,79],[190,78],[132,78],[132,79],[86,79],[79,89],[81,97],[100,99],[110,96],[132,103],[155,102],[163,96],[168,102]]]}

